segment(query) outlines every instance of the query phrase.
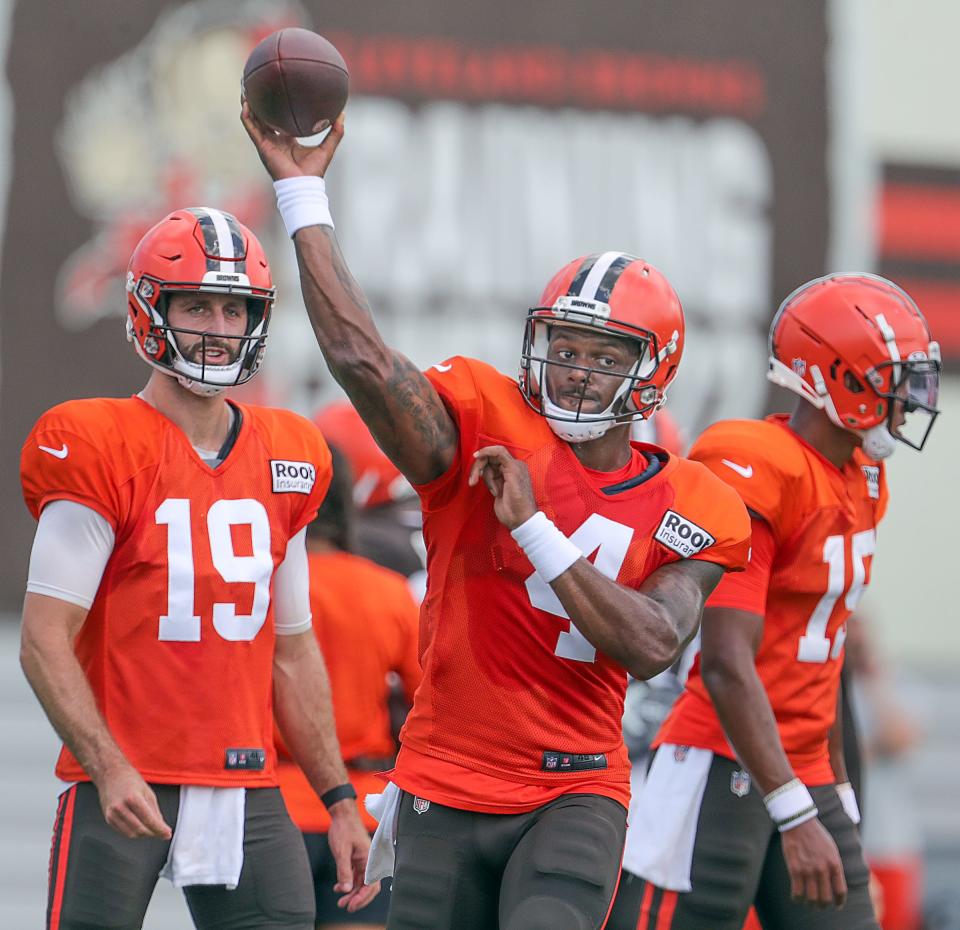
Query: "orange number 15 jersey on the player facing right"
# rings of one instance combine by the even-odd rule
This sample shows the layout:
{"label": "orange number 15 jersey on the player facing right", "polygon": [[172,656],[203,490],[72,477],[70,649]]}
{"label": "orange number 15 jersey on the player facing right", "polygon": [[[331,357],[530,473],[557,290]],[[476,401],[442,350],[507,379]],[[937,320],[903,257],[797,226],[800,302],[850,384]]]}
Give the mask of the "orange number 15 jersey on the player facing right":
{"label": "orange number 15 jersey on the player facing right", "polygon": [[[870,580],[876,526],[887,505],[883,465],[858,449],[838,469],[783,416],[717,423],[690,455],[736,488],[770,527],[775,551],[757,674],[795,773],[807,784],[828,784],[834,777],[827,734],[836,715],[846,622]],[[722,580],[708,606],[741,607],[739,592],[728,598],[726,587]],[[734,758],[699,657],[656,742]]]}

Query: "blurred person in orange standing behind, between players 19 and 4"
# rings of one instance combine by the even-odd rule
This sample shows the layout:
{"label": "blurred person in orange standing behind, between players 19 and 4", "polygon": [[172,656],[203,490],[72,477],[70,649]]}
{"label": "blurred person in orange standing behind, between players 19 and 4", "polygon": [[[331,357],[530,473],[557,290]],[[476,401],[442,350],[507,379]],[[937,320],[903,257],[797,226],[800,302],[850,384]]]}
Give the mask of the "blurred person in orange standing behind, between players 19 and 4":
{"label": "blurred person in orange standing behind, between players 19 and 4", "polygon": [[[356,527],[350,467],[335,445],[333,479],[317,518],[307,527],[310,609],[330,678],[337,739],[350,783],[359,798],[383,790],[375,773],[392,768],[397,745],[388,678],[400,682],[409,708],[420,683],[417,658],[419,609],[400,574],[354,554]],[[337,907],[332,888],[336,862],[327,831],[330,815],[277,733],[280,790],[293,822],[304,834],[313,871],[317,927],[375,930],[386,922],[390,904],[384,889],[362,911]],[[364,826],[377,822],[358,803]]]}

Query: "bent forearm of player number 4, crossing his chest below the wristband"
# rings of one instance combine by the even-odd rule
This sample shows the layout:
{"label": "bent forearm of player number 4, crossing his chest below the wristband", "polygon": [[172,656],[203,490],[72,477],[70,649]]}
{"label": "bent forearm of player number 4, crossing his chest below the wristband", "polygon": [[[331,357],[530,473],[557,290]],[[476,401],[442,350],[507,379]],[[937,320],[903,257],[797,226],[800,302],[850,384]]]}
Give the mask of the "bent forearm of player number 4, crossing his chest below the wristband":
{"label": "bent forearm of player number 4, crossing his chest below the wristband", "polygon": [[552,582],[564,610],[591,645],[647,679],[669,668],[693,630],[678,625],[662,605],[611,581],[586,559]]}

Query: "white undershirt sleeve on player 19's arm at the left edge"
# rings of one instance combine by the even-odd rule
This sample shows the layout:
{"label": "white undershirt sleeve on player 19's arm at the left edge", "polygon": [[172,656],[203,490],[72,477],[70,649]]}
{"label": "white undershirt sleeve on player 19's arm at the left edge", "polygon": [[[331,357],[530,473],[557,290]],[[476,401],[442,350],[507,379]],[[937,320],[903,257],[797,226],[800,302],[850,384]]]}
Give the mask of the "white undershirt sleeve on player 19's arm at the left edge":
{"label": "white undershirt sleeve on player 19's arm at the left edge", "polygon": [[40,513],[27,590],[90,609],[113,552],[107,520],[76,501],[51,501]]}

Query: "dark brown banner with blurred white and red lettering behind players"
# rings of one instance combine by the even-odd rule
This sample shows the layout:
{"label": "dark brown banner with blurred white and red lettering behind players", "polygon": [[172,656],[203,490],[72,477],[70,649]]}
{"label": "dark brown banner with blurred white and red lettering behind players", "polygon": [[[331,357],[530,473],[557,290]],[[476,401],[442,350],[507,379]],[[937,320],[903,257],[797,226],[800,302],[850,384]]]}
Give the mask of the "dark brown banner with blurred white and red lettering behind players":
{"label": "dark brown banner with blurred white and red lettering behind players", "polygon": [[309,413],[334,393],[238,120],[243,61],[285,25],[328,36],[351,69],[333,213],[386,337],[416,362],[469,354],[513,373],[524,312],[553,271],[618,249],[660,267],[687,311],[680,421],[762,408],[778,299],[826,270],[824,2],[21,2],[0,606],[23,593],[32,521],[17,474],[33,422],[147,377],[124,340],[123,275],[170,210],[234,212],[274,265],[274,327],[246,397]]}

